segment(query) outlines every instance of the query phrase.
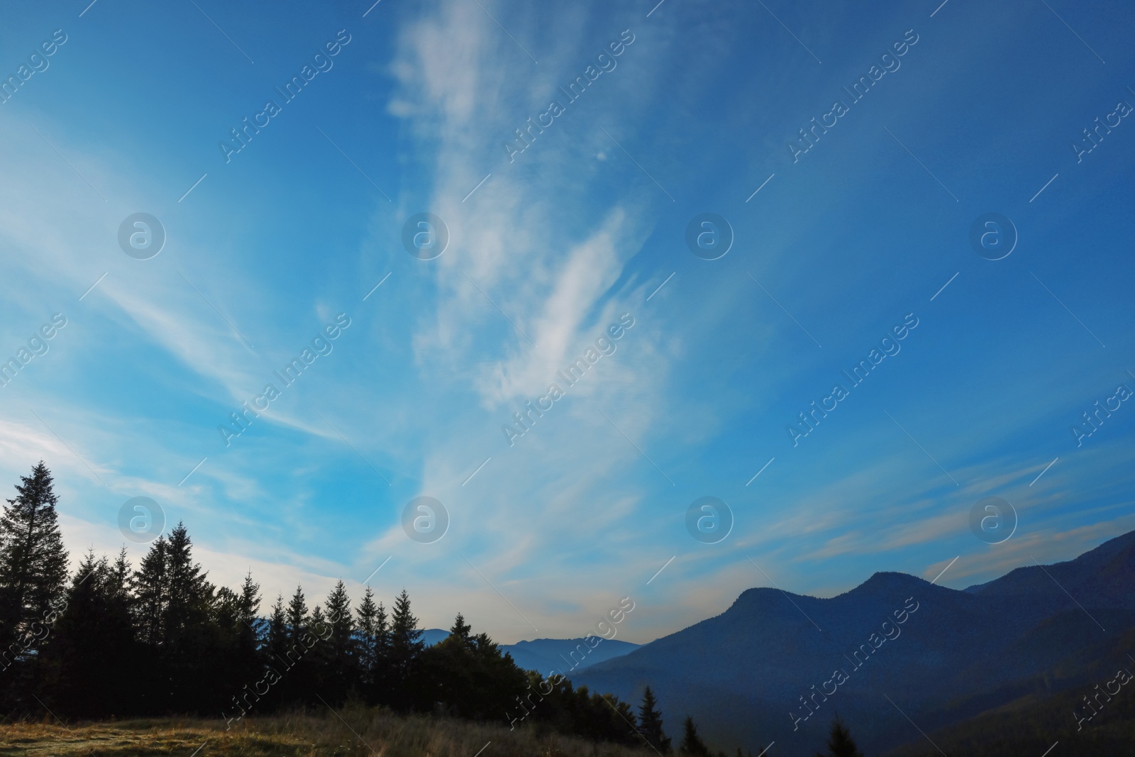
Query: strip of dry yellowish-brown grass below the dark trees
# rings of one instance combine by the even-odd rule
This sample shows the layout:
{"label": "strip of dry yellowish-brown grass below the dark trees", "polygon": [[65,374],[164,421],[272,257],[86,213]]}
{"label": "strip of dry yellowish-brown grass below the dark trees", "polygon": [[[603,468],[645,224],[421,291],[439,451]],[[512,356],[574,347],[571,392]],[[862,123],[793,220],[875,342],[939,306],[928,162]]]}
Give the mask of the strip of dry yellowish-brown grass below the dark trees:
{"label": "strip of dry yellowish-brown grass below the dark trees", "polygon": [[[486,747],[486,745],[488,745]],[[195,751],[200,748],[200,751]],[[484,751],[480,751],[482,748]],[[592,743],[523,727],[403,717],[347,708],[322,714],[250,717],[232,730],[220,720],[161,718],[0,724],[0,755],[180,755],[184,757],[648,757],[649,749]]]}

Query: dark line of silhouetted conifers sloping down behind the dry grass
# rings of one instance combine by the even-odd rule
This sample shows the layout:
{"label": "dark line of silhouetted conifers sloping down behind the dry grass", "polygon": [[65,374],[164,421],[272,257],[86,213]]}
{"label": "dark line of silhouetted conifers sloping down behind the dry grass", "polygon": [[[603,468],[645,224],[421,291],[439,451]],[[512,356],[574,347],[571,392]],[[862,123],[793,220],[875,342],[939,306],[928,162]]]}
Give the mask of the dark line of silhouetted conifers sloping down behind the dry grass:
{"label": "dark line of silhouetted conifers sloping down behind the dry grass", "polygon": [[[460,613],[449,636],[427,647],[405,589],[387,609],[370,587],[354,606],[343,581],[310,606],[296,587],[262,615],[251,573],[236,590],[211,583],[182,523],[154,539],[137,567],[123,548],[114,560],[87,553],[69,574],[42,461],[6,502],[0,713],[8,717],[44,708],[67,718],[176,714],[222,717],[232,727],[245,716],[347,701],[505,723],[522,709],[536,727],[673,751],[649,688],[636,712],[562,679],[544,682],[531,706],[537,672],[519,668]],[[679,751],[712,757],[690,718]]]}

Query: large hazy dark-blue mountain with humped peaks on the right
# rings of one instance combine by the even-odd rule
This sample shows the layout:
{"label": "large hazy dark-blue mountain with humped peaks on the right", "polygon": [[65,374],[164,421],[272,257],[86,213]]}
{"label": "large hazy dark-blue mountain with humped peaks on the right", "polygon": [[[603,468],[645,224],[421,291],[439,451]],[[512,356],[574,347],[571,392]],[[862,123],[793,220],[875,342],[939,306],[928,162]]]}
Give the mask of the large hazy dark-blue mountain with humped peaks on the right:
{"label": "large hazy dark-blue mountain with humped peaks on the right", "polygon": [[649,684],[672,731],[692,715],[724,749],[775,740],[781,755],[813,755],[839,712],[871,754],[1086,664],[1074,653],[1135,625],[1133,588],[1135,532],[964,591],[903,573],[830,599],[748,589],[721,615],[572,679],[632,701]]}

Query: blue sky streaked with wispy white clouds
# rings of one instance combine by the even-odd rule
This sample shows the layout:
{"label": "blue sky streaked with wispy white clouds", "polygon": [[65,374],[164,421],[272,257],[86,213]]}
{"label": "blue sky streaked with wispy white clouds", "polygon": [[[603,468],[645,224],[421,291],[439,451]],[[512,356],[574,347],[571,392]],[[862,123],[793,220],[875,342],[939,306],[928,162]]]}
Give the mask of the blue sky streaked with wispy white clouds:
{"label": "blue sky streaked with wispy white clouds", "polygon": [[[1135,406],[1070,430],[1135,388],[1135,125],[1071,146],[1135,104],[1135,11],[369,5],[6,9],[3,76],[66,42],[0,104],[0,352],[67,325],[0,388],[0,473],[48,462],[73,556],[117,550],[120,506],[149,496],[212,580],[251,567],[268,598],[339,578],[358,598],[382,565],[371,586],[409,589],[426,625],[580,636],[630,596],[622,638],[647,641],[773,581],[832,596],[958,557],[941,582],[964,588],[1135,528]],[[117,242],[136,212],[167,234],[150,260]],[[434,260],[402,245],[420,212],[449,232]],[[705,212],[734,234],[717,260],[686,246]],[[991,212],[1018,234],[997,261],[968,241]],[[330,353],[226,446],[218,426],[339,313]],[[510,446],[513,412],[624,313]],[[402,529],[418,496],[449,513],[434,544]],[[718,544],[686,530],[703,496],[733,512]],[[986,496],[1018,513],[1003,544],[969,530]]]}

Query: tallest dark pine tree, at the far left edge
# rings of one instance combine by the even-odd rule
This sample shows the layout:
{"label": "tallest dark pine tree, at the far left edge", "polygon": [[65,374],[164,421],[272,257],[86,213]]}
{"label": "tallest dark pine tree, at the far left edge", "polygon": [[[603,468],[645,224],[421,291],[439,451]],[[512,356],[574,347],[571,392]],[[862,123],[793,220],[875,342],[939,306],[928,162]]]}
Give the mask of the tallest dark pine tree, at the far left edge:
{"label": "tallest dark pine tree, at the far left edge", "polygon": [[[22,476],[16,497],[0,515],[0,648],[49,621],[64,598],[67,552],[59,533],[51,471],[41,460]],[[34,642],[34,639],[30,639]],[[26,646],[20,642],[20,648]]]}

